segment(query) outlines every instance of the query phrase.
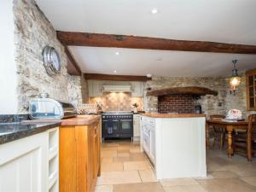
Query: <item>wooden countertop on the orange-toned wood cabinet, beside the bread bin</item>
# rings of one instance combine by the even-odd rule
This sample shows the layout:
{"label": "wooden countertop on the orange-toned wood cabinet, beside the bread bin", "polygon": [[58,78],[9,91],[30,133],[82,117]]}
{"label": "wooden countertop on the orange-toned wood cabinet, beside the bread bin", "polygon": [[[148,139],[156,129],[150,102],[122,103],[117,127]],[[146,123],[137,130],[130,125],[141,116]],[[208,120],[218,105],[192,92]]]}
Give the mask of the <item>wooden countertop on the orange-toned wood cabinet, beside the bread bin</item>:
{"label": "wooden countertop on the orange-toned wood cabinet, beside the bread bin", "polygon": [[61,119],[61,126],[90,125],[101,119],[101,115],[78,115],[75,118]]}

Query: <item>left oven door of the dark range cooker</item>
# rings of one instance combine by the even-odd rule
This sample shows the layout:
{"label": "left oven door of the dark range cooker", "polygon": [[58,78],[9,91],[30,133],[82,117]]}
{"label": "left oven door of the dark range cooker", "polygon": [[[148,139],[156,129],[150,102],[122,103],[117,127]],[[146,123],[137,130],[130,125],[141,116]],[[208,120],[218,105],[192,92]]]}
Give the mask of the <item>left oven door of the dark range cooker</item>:
{"label": "left oven door of the dark range cooker", "polygon": [[119,134],[119,120],[103,119],[102,120],[102,137],[111,138],[117,137]]}

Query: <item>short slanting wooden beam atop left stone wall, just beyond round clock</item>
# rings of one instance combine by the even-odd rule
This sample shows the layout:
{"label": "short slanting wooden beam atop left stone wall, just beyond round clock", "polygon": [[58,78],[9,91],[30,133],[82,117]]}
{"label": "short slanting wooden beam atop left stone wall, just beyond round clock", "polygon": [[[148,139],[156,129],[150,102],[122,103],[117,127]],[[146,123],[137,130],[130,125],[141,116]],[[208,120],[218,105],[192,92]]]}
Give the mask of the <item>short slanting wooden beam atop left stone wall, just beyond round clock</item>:
{"label": "short slanting wooden beam atop left stone wall, just beyond round clock", "polygon": [[64,45],[64,48],[65,48],[65,53],[67,55],[67,73],[70,75],[81,76],[82,72],[79,67],[79,64],[74,59],[74,57],[73,57],[72,53],[70,52],[70,50],[68,49],[67,45]]}

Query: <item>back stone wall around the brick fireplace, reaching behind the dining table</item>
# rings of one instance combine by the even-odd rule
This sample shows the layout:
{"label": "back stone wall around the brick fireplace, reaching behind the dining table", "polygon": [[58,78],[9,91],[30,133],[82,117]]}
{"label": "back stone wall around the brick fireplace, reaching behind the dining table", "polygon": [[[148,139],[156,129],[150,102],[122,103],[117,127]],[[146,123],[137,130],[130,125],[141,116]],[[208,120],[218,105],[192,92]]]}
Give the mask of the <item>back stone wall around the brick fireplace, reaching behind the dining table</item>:
{"label": "back stone wall around the brick fireplace, reaching behind the dining table", "polygon": [[[232,108],[241,110],[243,117],[246,118],[250,113],[246,109],[246,78],[245,73],[241,73],[241,84],[236,90],[236,95],[230,94],[229,79],[224,78],[160,78],[153,77],[148,81],[146,88],[160,89],[175,86],[202,86],[218,91],[218,96],[201,96],[195,104],[201,104],[202,111],[207,116],[213,113],[226,114]],[[158,99],[156,96],[145,96],[144,107],[148,112],[157,112]]]}

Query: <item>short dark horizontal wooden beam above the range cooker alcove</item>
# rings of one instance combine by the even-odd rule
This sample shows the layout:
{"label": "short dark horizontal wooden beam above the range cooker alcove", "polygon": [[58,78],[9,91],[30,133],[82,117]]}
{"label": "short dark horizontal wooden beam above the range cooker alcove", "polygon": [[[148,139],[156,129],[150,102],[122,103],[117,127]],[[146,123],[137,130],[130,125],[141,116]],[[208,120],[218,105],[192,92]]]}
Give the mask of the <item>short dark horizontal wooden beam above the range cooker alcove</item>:
{"label": "short dark horizontal wooden beam above the range cooker alcove", "polygon": [[111,81],[148,81],[151,78],[147,76],[134,76],[134,75],[110,75],[110,74],[97,74],[97,73],[84,73],[84,79],[95,80],[111,80]]}

